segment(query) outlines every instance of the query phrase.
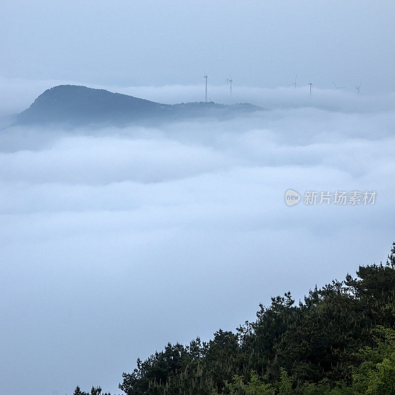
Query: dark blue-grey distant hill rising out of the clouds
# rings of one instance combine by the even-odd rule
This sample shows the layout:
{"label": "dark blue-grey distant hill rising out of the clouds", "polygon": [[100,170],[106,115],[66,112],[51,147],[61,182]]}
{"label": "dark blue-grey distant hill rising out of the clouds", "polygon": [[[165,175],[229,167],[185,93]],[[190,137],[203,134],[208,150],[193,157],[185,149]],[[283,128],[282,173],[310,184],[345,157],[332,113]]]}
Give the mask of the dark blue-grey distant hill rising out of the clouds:
{"label": "dark blue-grey distant hill rising out of the clouds", "polygon": [[59,85],[47,89],[18,115],[18,123],[127,124],[141,120],[190,117],[231,117],[240,112],[263,110],[251,104],[210,103],[161,104],[104,89]]}

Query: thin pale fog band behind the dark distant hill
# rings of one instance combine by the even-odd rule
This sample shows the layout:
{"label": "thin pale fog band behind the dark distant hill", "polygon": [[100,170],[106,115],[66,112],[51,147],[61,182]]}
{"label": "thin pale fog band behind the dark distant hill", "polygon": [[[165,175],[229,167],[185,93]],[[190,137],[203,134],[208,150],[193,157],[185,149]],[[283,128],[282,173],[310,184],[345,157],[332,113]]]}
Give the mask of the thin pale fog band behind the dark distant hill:
{"label": "thin pale fog band behind the dark distant hill", "polygon": [[[360,81],[356,81],[359,84]],[[111,92],[123,93],[147,100],[165,104],[200,102],[205,100],[204,79],[194,85],[165,85],[165,86],[129,86],[83,84],[75,80],[28,80],[7,79],[0,77],[0,117],[11,116],[28,108],[44,90],[52,86],[71,84],[85,85],[90,88],[107,89]],[[276,89],[255,88],[233,83],[232,95],[230,85],[226,83],[211,84],[208,82],[207,100],[216,103],[235,104],[251,103],[265,109],[289,109],[314,107],[323,110],[339,112],[380,112],[388,111],[395,106],[395,94],[370,94],[363,82],[358,97],[356,88],[349,84],[344,89],[323,89],[313,85],[312,97],[307,82],[294,89],[279,86]]]}

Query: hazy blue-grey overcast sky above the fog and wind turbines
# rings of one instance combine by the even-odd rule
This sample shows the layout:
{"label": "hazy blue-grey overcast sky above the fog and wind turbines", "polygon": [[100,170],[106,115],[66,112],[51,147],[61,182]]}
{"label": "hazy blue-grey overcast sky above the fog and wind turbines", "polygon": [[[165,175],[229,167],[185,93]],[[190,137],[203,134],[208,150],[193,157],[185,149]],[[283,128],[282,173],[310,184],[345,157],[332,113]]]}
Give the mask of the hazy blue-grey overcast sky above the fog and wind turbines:
{"label": "hazy blue-grey overcast sky above the fog and wind turbines", "polygon": [[395,90],[394,1],[3,0],[4,77]]}

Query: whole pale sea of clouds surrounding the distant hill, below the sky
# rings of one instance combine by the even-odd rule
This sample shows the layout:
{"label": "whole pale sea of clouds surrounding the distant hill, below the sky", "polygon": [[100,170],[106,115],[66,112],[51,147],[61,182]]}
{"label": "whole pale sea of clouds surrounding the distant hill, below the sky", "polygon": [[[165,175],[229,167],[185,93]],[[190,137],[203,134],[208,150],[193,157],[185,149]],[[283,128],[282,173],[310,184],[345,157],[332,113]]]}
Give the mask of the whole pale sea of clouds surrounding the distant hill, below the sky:
{"label": "whole pale sea of clouds surrounding the distant hill, below the sky", "polygon": [[[2,82],[3,119],[57,84]],[[204,93],[106,88],[164,103]],[[310,99],[306,86],[235,84],[230,98],[228,88],[212,87],[212,99],[269,111],[0,131],[2,394],[70,395],[77,384],[118,392],[138,356],[208,340],[253,320],[271,296],[303,299],[385,261],[395,239],[395,95],[316,88]],[[299,204],[285,204],[288,189]],[[308,190],[377,196],[305,205]]]}

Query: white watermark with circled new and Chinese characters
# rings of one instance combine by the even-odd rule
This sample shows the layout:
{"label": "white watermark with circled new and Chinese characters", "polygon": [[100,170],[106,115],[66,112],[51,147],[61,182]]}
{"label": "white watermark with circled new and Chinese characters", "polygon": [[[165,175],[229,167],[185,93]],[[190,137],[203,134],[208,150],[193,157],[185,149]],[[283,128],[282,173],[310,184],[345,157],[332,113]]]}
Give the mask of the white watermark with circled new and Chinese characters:
{"label": "white watermark with circled new and Chinese characters", "polygon": [[[356,206],[372,205],[376,201],[376,191],[306,191],[303,197],[303,204],[307,206],[314,206],[320,204],[336,204],[339,206],[349,205]],[[285,204],[293,206],[299,203],[301,197],[293,189],[288,189],[285,192]]]}

